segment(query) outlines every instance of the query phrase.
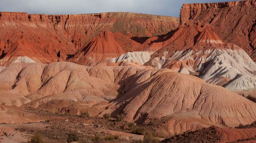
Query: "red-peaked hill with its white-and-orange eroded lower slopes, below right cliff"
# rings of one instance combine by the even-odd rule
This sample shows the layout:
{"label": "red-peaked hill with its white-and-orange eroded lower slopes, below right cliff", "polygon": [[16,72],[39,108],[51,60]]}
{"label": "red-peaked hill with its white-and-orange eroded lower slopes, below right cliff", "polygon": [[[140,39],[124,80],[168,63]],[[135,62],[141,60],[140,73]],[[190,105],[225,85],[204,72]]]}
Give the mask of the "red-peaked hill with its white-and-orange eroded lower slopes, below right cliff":
{"label": "red-peaked hill with its white-and-orange eroded lower slopes, below right cliff", "polygon": [[[149,38],[147,41],[153,40]],[[193,39],[193,40],[191,40]],[[145,43],[147,43],[147,41]],[[224,43],[210,24],[187,22],[165,37],[156,38],[141,52],[123,54],[109,62],[133,62],[196,75],[230,90],[255,89],[256,64],[235,44]],[[154,48],[152,48],[154,47]],[[156,52],[149,49],[158,49]]]}

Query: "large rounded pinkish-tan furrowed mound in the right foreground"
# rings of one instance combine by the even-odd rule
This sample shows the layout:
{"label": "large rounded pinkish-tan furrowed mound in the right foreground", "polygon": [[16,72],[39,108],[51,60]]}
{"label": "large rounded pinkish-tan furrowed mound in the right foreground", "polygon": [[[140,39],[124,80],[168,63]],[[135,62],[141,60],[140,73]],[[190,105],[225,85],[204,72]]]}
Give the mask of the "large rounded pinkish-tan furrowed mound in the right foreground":
{"label": "large rounded pinkish-tan furrowed mound in the right foreground", "polygon": [[[245,106],[247,104],[255,106],[248,100],[244,106],[239,103],[243,97],[222,87],[206,84],[196,77],[168,72],[168,70],[153,73],[154,76],[150,77],[152,74],[150,70],[143,71],[146,80],[135,84],[134,89],[114,101],[106,112],[122,111],[128,121],[139,122],[168,116],[170,121],[166,122],[166,126],[168,124],[169,131],[174,134],[188,129],[196,130],[210,124],[236,126],[240,122],[247,122],[244,118],[238,121],[238,118],[243,117],[240,113],[247,112],[248,108]],[[137,73],[136,76],[141,81],[142,75]],[[224,111],[231,106],[235,110]],[[244,108],[240,108],[241,106]],[[253,112],[254,109],[250,110]],[[246,116],[251,118],[250,114]]]}

